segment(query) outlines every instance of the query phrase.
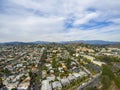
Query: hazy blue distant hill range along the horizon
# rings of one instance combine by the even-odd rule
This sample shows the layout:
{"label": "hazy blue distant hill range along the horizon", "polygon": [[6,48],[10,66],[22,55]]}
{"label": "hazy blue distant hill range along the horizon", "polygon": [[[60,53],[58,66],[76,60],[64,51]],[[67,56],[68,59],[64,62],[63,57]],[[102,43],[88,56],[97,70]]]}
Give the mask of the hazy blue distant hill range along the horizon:
{"label": "hazy blue distant hill range along the horizon", "polygon": [[[35,42],[5,42],[0,44],[49,44],[52,42],[47,41],[35,41]],[[92,44],[92,45],[110,45],[110,44],[120,44],[120,42],[111,42],[111,41],[102,41],[102,40],[75,40],[75,41],[61,41],[55,42],[59,44],[69,44],[69,43],[85,43],[85,44]]]}

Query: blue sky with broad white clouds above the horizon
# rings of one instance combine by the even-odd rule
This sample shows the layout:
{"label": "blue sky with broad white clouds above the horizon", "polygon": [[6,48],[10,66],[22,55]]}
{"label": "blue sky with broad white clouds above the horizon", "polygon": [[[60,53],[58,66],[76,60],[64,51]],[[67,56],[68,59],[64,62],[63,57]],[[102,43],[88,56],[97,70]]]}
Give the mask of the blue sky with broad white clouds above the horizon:
{"label": "blue sky with broad white clouds above the horizon", "polygon": [[120,42],[120,0],[0,0],[0,42]]}

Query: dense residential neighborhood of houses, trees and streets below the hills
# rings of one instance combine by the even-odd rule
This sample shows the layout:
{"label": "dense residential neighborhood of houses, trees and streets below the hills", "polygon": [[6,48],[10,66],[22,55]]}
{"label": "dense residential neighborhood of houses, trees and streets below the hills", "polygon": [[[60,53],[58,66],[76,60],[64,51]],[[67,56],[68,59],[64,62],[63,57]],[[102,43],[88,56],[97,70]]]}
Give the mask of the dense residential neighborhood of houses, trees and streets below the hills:
{"label": "dense residential neighborhood of houses, trees and streets below the hills", "polygon": [[119,57],[120,49],[84,44],[1,45],[0,90],[81,90],[101,75],[106,63],[97,59],[100,55]]}

